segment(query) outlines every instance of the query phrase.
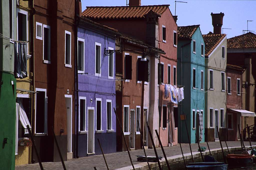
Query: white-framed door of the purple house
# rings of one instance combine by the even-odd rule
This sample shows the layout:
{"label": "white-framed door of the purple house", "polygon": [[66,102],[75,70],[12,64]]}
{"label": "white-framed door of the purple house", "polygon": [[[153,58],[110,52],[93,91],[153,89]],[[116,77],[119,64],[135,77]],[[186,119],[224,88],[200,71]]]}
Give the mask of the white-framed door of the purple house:
{"label": "white-framed door of the purple house", "polygon": [[88,153],[94,153],[94,108],[88,109]]}

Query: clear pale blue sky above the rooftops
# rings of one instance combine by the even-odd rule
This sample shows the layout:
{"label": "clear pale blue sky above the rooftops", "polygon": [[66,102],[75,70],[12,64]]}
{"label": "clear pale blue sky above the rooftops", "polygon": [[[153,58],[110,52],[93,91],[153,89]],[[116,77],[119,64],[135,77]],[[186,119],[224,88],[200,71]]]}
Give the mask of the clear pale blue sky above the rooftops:
{"label": "clear pale blue sky above the rooftops", "polygon": [[[206,0],[180,0],[187,3],[176,4],[176,15],[178,15],[178,26],[200,24],[202,34],[213,32],[211,12],[224,13],[222,28],[228,38],[243,34],[248,29],[256,33],[256,1],[206,1]],[[128,0],[129,2],[129,0]],[[172,14],[175,13],[174,0],[141,0],[142,5],[169,4]],[[86,6],[126,6],[126,0],[82,0],[82,10]]]}

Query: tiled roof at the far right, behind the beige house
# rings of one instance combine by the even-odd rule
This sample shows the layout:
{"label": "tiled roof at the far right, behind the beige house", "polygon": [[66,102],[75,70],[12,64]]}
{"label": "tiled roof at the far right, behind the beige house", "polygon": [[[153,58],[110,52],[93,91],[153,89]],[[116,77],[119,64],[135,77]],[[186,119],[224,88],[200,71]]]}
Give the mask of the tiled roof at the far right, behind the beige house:
{"label": "tiled roof at the far right, behind the beige house", "polygon": [[248,32],[228,39],[228,48],[256,48],[256,35]]}

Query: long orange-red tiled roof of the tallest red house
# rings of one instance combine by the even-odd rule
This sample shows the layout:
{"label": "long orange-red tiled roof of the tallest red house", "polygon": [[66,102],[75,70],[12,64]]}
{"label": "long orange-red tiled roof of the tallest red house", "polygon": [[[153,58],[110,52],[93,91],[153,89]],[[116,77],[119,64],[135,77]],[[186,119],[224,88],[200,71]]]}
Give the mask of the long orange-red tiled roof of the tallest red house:
{"label": "long orange-red tiled roof of the tallest red house", "polygon": [[123,18],[144,18],[149,11],[162,15],[169,5],[148,5],[148,6],[92,6],[86,7],[82,12],[82,16],[87,18],[109,18],[109,19],[123,19]]}

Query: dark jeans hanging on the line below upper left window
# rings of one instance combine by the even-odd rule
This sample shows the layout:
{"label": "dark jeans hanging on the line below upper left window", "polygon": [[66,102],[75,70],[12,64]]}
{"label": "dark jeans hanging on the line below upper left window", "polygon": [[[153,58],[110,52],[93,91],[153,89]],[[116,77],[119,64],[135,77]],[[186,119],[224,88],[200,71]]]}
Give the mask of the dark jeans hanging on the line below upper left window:
{"label": "dark jeans hanging on the line below upper left window", "polygon": [[27,77],[27,43],[14,43],[14,75],[15,78]]}

